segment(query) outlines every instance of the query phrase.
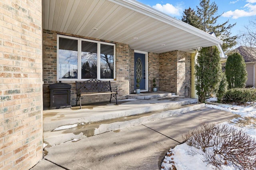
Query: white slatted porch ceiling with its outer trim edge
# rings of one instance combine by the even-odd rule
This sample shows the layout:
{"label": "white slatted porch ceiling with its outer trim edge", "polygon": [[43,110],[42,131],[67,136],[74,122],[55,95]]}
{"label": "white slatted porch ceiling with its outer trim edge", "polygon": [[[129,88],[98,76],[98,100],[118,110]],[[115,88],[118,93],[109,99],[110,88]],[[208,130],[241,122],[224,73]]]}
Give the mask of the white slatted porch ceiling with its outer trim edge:
{"label": "white slatted porch ceiling with its outer trim edge", "polygon": [[43,10],[46,30],[125,43],[138,51],[192,53],[222,42],[135,0],[43,0]]}

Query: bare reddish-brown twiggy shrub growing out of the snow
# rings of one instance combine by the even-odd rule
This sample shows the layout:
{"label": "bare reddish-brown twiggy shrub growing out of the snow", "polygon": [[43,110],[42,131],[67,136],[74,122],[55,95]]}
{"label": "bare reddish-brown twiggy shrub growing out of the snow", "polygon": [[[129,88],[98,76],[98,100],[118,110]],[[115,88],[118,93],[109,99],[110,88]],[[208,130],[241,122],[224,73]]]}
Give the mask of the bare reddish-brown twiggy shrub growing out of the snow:
{"label": "bare reddish-brown twiggy shrub growing out of the snow", "polygon": [[[203,161],[221,169],[232,165],[236,169],[256,169],[256,140],[243,130],[227,125],[202,123],[200,128],[182,136],[186,144],[205,152]],[[194,155],[195,150],[189,150]]]}

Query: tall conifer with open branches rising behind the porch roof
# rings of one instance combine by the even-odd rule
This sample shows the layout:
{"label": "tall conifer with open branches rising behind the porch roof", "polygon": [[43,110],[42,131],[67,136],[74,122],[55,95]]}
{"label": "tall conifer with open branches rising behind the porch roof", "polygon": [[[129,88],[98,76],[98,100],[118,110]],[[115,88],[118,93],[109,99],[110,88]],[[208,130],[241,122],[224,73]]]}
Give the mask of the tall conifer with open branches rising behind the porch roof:
{"label": "tall conifer with open branches rising behind the porch roof", "polygon": [[[221,15],[217,15],[218,6],[215,2],[210,4],[210,0],[201,0],[199,6],[196,6],[196,20],[198,22],[191,22],[191,20],[185,20],[184,18],[191,18],[194,14],[194,10],[188,9],[184,11],[182,21],[200,29],[204,32],[214,32],[223,43],[221,44],[223,51],[228,51],[231,47],[236,45],[237,36],[231,36],[230,30],[236,24],[228,24],[229,20],[223,24],[217,24],[217,20]],[[192,20],[194,21],[194,20]],[[191,24],[192,23],[192,24]],[[197,25],[195,25],[195,23]]]}

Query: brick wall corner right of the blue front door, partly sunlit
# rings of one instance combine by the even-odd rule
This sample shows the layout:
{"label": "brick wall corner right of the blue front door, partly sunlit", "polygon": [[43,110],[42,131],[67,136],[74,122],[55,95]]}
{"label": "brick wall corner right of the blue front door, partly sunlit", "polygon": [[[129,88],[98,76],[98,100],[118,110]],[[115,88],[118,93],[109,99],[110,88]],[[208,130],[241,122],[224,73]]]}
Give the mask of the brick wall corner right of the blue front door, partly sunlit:
{"label": "brick wall corner right of the blue front door, partly sunlit", "polygon": [[[185,87],[191,89],[190,53],[182,51],[161,53],[159,54],[159,65],[159,89],[161,91],[170,91],[184,96]],[[191,96],[191,90],[189,96]]]}

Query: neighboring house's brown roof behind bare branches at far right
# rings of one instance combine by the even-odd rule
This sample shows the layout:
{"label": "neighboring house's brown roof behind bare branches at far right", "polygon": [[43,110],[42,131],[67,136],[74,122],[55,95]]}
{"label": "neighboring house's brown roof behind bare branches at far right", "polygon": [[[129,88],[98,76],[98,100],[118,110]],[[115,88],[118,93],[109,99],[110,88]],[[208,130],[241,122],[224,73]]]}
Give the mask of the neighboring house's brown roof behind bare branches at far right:
{"label": "neighboring house's brown roof behind bare branches at far right", "polygon": [[248,50],[250,50],[250,47],[239,46],[236,49],[233,49],[232,53],[233,52],[240,53],[240,55],[242,55],[244,57],[244,62],[246,62],[246,63],[255,62],[256,61],[256,53],[254,51],[256,51],[256,48],[253,48],[252,50],[250,50],[250,52]]}

